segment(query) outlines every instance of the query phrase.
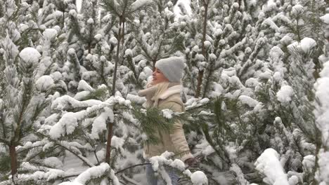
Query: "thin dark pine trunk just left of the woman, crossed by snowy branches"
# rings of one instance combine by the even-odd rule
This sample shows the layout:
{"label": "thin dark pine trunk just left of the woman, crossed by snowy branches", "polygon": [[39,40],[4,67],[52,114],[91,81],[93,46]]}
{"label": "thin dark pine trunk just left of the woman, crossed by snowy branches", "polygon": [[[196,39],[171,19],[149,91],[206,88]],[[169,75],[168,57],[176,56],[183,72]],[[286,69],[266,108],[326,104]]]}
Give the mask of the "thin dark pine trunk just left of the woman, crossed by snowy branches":
{"label": "thin dark pine trunk just left of the woman, crossed by snowy branches", "polygon": [[[112,96],[115,95],[115,82],[117,81],[117,64],[119,62],[119,54],[120,54],[120,41],[121,41],[121,25],[122,25],[122,16],[120,16],[119,21],[119,32],[117,34],[117,53],[115,55],[115,69],[113,71],[113,83],[112,83]],[[112,141],[112,131],[113,131],[113,123],[108,123],[108,142],[106,144],[106,156],[105,161],[110,165],[111,158],[111,141]]]}

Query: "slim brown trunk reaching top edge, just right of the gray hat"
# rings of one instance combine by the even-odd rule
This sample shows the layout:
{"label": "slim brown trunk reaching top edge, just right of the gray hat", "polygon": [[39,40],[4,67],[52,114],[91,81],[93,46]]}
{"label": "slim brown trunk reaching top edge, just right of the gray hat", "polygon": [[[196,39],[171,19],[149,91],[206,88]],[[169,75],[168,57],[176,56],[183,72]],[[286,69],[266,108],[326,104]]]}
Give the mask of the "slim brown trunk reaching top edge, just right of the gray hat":
{"label": "slim brown trunk reaching top edge, just right of the gray hat", "polygon": [[[202,55],[206,58],[206,50],[205,50],[205,36],[207,32],[207,13],[208,13],[208,1],[203,0],[203,6],[205,6],[205,18],[203,20],[203,30],[202,30]],[[201,93],[201,85],[202,85],[202,78],[205,69],[199,70],[198,74],[198,84],[195,90],[195,97],[199,97]]]}

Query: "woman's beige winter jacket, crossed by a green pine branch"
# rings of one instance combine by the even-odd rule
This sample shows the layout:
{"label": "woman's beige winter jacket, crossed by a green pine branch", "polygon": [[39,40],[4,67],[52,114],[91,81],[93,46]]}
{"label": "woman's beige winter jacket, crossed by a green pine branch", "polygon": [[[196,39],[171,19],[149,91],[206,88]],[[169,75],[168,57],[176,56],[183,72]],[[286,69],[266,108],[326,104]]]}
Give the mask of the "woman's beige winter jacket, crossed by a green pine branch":
{"label": "woman's beige winter jacket, crossed by a green pine branch", "polygon": [[[181,85],[174,85],[168,88],[164,93],[159,95],[157,108],[160,110],[171,109],[176,112],[185,111],[184,104],[181,102],[180,93]],[[160,142],[157,144],[144,145],[144,154],[146,158],[160,156],[164,151],[174,152],[176,158],[180,158],[182,161],[193,158],[188,148],[188,143],[186,142],[181,121],[176,121],[174,123],[174,128],[171,132],[157,130],[155,136],[160,138]]]}

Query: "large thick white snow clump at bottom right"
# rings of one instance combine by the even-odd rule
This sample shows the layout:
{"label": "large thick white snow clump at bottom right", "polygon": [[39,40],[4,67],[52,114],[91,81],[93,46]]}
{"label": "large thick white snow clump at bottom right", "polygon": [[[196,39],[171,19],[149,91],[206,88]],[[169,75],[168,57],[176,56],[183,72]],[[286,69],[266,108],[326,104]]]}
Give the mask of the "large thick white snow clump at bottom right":
{"label": "large thick white snow clump at bottom right", "polygon": [[289,185],[287,174],[280,164],[279,154],[274,149],[266,149],[254,165],[259,172],[266,175],[263,179],[266,184]]}

